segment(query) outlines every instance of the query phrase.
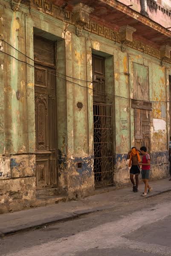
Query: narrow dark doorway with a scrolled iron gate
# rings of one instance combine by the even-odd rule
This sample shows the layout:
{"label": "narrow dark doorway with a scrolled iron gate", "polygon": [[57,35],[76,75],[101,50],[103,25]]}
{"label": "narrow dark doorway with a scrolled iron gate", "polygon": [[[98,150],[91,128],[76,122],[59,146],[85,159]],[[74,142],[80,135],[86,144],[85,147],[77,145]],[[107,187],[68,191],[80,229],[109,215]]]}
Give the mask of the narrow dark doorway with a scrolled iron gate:
{"label": "narrow dark doorway with a scrolled iron gate", "polygon": [[92,55],[95,187],[113,185],[112,105],[105,93],[105,58]]}

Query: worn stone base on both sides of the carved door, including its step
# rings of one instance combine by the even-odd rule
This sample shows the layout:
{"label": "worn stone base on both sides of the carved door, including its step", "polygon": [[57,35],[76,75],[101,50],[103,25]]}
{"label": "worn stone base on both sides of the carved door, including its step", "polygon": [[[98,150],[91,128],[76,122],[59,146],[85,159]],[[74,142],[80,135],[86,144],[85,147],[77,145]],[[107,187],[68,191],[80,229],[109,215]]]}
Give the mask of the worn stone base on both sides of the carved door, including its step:
{"label": "worn stone base on both sides of the carved door, including its step", "polygon": [[[87,164],[79,168],[78,163]],[[1,157],[0,167],[0,213],[84,198],[95,192],[93,160],[89,158],[68,160],[59,170],[58,187],[53,189],[36,189],[34,154]]]}

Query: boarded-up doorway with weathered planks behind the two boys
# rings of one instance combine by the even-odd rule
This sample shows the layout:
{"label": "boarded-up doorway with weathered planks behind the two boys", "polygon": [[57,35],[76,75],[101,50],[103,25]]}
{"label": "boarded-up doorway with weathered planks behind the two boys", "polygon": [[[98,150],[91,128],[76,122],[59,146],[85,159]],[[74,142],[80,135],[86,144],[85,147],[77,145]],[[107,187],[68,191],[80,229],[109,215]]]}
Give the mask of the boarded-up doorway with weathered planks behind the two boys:
{"label": "boarded-up doorway with weathered planks behind the two boys", "polygon": [[152,110],[149,102],[149,71],[148,67],[133,62],[133,99],[134,108],[134,135],[135,147],[147,147],[150,153],[150,113]]}

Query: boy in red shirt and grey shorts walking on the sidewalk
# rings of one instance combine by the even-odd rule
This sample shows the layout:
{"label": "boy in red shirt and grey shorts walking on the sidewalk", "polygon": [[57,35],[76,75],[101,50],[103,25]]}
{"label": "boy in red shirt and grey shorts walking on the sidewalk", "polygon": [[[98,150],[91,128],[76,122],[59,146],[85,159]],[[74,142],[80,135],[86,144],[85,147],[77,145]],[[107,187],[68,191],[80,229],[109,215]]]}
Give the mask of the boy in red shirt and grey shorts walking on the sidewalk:
{"label": "boy in red shirt and grey shorts walking on the sidewalk", "polygon": [[142,162],[139,162],[139,164],[142,165],[141,175],[142,175],[142,180],[145,183],[145,189],[141,196],[146,196],[147,189],[148,189],[148,193],[150,193],[153,190],[152,187],[149,186],[148,184],[149,174],[150,174],[150,156],[145,146],[141,147],[140,151],[143,157],[142,157]]}

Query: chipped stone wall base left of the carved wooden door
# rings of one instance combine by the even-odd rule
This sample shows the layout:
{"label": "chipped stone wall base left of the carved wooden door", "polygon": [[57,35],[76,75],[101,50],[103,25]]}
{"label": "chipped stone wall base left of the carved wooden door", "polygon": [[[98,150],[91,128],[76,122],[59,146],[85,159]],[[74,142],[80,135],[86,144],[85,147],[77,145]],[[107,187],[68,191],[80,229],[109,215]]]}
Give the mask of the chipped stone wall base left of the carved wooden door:
{"label": "chipped stone wall base left of the carved wooden door", "polygon": [[35,197],[35,154],[1,156],[0,213],[30,207]]}

